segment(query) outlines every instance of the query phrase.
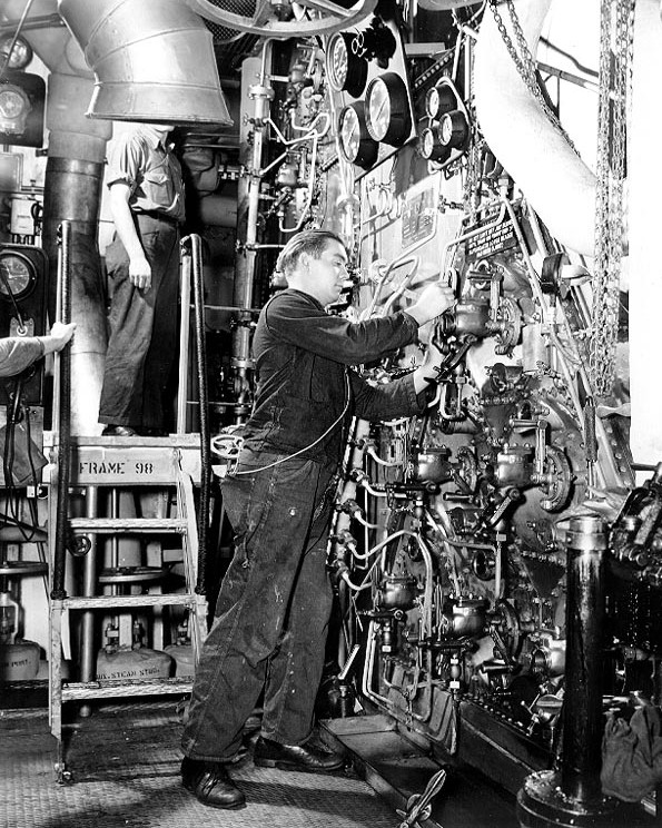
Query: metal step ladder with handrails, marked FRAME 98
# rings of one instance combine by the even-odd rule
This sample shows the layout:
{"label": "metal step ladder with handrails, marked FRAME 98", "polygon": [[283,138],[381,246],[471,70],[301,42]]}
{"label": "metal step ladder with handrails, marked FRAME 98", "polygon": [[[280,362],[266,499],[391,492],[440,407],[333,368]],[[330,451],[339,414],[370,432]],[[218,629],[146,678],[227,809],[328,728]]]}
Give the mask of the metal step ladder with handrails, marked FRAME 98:
{"label": "metal step ladder with handrails, marked FRAME 98", "polygon": [[[59,290],[60,318],[68,318],[68,231],[67,223],[61,228]],[[204,313],[201,284],[201,250],[199,238],[191,236],[190,247],[182,243],[181,306],[190,303],[191,272],[195,279],[196,318]],[[182,317],[188,316],[182,314]],[[62,740],[62,706],[66,702],[85,702],[92,699],[136,698],[166,693],[187,694],[192,679],[181,678],[121,678],[97,679],[93,658],[93,624],[98,617],[126,619],[131,612],[160,612],[162,608],[181,608],[188,611],[188,629],[195,662],[207,629],[207,601],[205,597],[205,553],[209,513],[210,461],[206,451],[209,434],[206,417],[207,386],[205,379],[204,326],[197,325],[196,345],[198,356],[198,385],[200,404],[200,433],[185,433],[185,410],[178,406],[177,433],[168,437],[118,437],[73,436],[70,428],[70,361],[67,352],[56,356],[53,430],[45,433],[45,450],[50,453],[50,463],[45,470],[48,484],[50,619],[49,619],[49,721],[57,740],[56,773],[58,781],[71,782],[72,775],[65,761]],[[180,396],[188,362],[188,322],[180,336]],[[184,366],[182,366],[184,363]],[[99,516],[98,493],[151,490],[172,492],[174,518]],[[194,486],[200,487],[196,507]],[[85,518],[70,514],[70,492],[86,492]],[[117,495],[115,495],[117,496]],[[148,592],[145,594],[117,594],[113,583],[122,580],[140,586],[141,574],[115,571],[107,578],[96,573],[97,540],[117,539],[121,535],[179,535],[185,585],[181,592]],[[73,579],[68,561],[85,558],[82,593],[67,594],[66,584]],[[146,568],[149,569],[149,568]],[[149,573],[147,579],[149,580]],[[137,584],[136,584],[137,581]],[[103,583],[111,584],[111,594],[98,594]],[[140,589],[142,592],[142,589]],[[70,617],[80,619],[80,637],[83,650],[80,672],[86,680],[70,682],[63,678],[63,648],[69,650]],[[86,644],[87,640],[87,647]],[[86,652],[87,651],[87,652]]]}

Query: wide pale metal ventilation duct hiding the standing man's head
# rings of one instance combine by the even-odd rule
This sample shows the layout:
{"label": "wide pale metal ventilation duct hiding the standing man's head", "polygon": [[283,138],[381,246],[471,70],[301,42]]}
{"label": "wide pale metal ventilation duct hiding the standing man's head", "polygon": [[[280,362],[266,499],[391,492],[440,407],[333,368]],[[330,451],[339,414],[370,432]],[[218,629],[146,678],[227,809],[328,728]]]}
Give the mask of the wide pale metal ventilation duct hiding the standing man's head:
{"label": "wide pale metal ventilation duct hiding the standing man's head", "polygon": [[181,0],[59,0],[96,82],[88,115],[231,125],[211,32]]}

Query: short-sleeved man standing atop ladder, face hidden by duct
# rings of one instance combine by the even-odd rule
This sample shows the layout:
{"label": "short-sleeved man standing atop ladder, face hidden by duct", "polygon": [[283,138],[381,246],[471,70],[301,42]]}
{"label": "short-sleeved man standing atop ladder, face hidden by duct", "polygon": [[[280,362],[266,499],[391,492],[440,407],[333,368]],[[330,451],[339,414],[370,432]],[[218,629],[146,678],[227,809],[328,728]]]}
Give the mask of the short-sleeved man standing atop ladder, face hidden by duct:
{"label": "short-sleeved man standing atop ladder, face hidden by duct", "polygon": [[107,183],[116,235],[106,250],[110,337],[99,405],[103,434],[160,434],[177,349],[181,168],[171,126],[136,124],[113,147]]}

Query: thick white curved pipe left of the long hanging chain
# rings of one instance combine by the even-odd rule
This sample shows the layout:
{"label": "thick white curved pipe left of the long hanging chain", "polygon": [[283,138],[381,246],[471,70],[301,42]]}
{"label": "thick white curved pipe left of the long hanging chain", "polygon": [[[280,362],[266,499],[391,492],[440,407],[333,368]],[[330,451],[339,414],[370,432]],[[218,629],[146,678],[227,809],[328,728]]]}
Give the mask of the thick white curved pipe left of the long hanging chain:
{"label": "thick white curved pipe left of the long hanging chain", "polygon": [[[514,3],[534,58],[551,4],[552,0]],[[498,9],[516,42],[506,7]],[[474,91],[477,120],[490,149],[550,233],[572,250],[593,256],[595,176],[527,89],[488,7],[475,49]]]}

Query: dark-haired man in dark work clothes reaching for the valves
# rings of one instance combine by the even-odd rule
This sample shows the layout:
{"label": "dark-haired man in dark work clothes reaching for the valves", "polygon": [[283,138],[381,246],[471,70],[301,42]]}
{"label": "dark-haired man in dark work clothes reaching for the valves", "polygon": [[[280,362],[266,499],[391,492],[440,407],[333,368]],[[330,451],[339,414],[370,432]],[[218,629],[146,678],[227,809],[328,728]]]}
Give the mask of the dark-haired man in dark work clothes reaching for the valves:
{"label": "dark-haired man in dark work clothes reaching for the valves", "polygon": [[263,308],[253,343],[257,393],[238,470],[223,483],[235,555],[205,641],[182,737],[182,782],[205,805],[239,808],[227,773],[264,689],[254,761],[327,771],[340,757],[309,740],[332,608],[325,566],[344,425],[419,413],[441,354],[374,387],[349,366],[416,341],[454,303],[431,285],[406,312],[350,323],[326,313],[347,278],[342,239],[293,237],[279,257],[288,287]]}

